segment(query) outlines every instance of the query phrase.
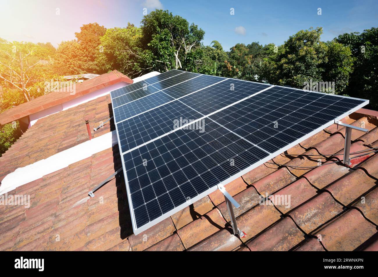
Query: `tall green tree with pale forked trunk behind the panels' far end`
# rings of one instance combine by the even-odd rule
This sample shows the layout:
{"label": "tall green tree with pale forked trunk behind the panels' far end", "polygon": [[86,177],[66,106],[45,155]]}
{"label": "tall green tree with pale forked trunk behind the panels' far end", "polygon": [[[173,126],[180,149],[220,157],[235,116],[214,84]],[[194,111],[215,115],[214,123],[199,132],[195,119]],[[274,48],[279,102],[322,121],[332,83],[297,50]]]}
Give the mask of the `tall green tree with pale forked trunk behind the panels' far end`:
{"label": "tall green tree with pale forked trunk behind the panels' far end", "polygon": [[142,19],[145,61],[158,71],[183,68],[201,71],[204,51],[201,45],[205,32],[179,15],[155,10]]}

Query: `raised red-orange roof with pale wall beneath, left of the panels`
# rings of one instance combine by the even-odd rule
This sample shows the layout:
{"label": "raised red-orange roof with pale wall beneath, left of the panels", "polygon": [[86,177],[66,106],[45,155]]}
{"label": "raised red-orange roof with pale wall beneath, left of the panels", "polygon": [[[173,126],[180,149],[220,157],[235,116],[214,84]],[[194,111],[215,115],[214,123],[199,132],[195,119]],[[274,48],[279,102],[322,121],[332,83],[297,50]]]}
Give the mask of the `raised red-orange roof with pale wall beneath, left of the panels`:
{"label": "raised red-orange roof with pale wall beneath, left of the panels", "polygon": [[81,97],[82,95],[119,82],[131,84],[133,83],[133,80],[126,75],[113,70],[110,73],[99,75],[98,77],[86,80],[83,83],[76,83],[76,92],[73,95],[70,95],[70,92],[50,92],[30,100],[29,102],[8,109],[0,114],[0,124],[4,125],[14,120],[19,120],[25,116],[68,102],[77,97]]}

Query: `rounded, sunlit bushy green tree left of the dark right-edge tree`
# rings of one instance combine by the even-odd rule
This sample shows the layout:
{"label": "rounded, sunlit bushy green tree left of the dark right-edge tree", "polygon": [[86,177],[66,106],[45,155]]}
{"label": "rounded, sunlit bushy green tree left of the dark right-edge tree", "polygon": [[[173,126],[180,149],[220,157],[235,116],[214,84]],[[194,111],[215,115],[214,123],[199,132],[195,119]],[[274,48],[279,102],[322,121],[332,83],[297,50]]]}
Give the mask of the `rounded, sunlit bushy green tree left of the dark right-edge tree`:
{"label": "rounded, sunlit bushy green tree left of the dark right-edge tree", "polygon": [[322,28],[310,28],[281,46],[265,46],[260,80],[294,88],[303,88],[306,82],[335,82],[335,93],[342,93],[353,68],[352,54],[336,41],[321,42],[321,34]]}

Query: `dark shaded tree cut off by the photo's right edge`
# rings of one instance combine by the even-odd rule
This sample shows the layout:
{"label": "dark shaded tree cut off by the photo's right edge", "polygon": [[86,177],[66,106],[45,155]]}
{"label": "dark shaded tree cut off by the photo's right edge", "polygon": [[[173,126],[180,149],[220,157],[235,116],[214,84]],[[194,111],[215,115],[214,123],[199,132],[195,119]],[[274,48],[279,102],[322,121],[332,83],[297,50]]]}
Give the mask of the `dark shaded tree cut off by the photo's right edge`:
{"label": "dark shaded tree cut off by the photo's right edge", "polygon": [[345,93],[369,99],[369,106],[378,108],[378,28],[339,35],[336,41],[352,51],[354,70]]}

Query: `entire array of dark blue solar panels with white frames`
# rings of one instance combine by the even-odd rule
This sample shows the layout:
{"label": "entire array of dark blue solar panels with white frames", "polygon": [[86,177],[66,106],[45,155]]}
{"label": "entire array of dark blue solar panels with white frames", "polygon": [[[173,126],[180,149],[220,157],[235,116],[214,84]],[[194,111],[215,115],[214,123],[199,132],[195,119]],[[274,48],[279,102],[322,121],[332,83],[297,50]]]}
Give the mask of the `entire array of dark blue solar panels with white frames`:
{"label": "entire array of dark blue solar panels with white frames", "polygon": [[180,70],[110,95],[135,234],[369,103]]}

